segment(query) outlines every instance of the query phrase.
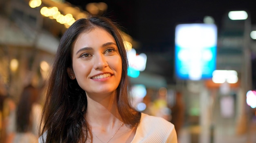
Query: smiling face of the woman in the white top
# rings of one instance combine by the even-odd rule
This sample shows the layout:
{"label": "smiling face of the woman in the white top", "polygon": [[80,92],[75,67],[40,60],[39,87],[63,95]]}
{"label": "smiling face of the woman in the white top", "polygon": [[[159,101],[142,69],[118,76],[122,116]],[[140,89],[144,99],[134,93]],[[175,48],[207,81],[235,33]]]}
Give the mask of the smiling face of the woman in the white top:
{"label": "smiling face of the woman in the white top", "polygon": [[115,39],[106,30],[94,28],[82,33],[72,49],[72,69],[68,69],[87,95],[115,91],[120,83],[122,61]]}

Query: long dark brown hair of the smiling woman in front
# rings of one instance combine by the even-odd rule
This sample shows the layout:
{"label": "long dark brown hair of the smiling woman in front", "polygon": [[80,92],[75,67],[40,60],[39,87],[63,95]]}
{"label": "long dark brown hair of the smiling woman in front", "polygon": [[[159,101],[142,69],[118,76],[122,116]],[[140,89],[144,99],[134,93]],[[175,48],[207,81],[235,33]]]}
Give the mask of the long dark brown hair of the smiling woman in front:
{"label": "long dark brown hair of the smiling woman in front", "polygon": [[81,33],[96,27],[105,29],[115,38],[121,55],[123,69],[121,82],[117,87],[116,101],[119,114],[129,128],[139,124],[141,113],[130,105],[128,59],[119,27],[106,17],[94,15],[77,20],[61,37],[43,107],[41,120],[43,128],[40,132],[40,136],[45,132],[45,138],[41,138],[43,143],[79,143],[89,139],[90,128],[85,119],[86,94],[76,80],[68,77],[67,68],[72,67],[71,54],[74,41]]}

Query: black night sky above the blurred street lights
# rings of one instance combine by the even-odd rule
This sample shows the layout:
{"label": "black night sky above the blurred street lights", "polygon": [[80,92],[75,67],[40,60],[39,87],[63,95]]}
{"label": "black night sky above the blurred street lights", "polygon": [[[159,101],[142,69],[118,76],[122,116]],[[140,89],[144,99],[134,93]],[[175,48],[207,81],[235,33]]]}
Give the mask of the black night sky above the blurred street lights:
{"label": "black night sky above the blurred street lights", "polygon": [[245,10],[256,24],[255,0],[67,0],[85,10],[89,2],[105,2],[110,17],[123,31],[141,44],[137,52],[148,55],[147,72],[159,74],[168,83],[175,82],[175,26],[202,23],[204,16],[214,18],[218,30],[223,16],[231,10]]}

